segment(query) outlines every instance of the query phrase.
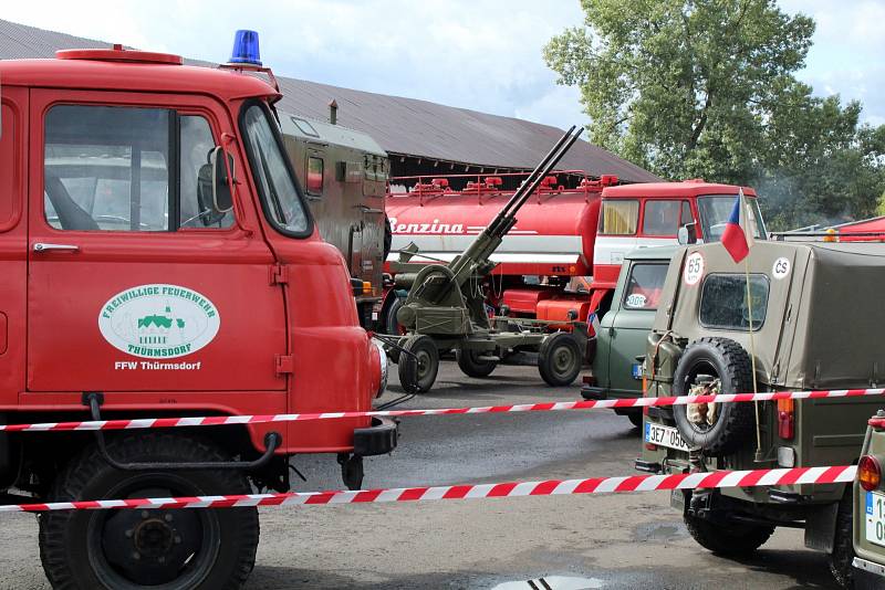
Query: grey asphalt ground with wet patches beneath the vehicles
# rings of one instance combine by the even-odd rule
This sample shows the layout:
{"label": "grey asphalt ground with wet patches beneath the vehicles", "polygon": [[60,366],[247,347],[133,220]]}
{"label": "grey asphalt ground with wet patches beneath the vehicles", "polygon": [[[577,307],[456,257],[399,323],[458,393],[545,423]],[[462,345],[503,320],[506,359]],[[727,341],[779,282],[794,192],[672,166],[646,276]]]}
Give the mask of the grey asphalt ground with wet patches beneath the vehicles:
{"label": "grey asphalt ground with wet patches beneath the vehicles", "polygon": [[[382,401],[400,389],[393,367]],[[573,400],[532,367],[470,379],[444,361],[435,389],[398,408]],[[639,432],[607,411],[403,419],[399,447],[366,460],[364,488],[631,475]],[[333,456],[299,457],[300,491],[342,488]],[[249,589],[832,588],[823,554],[779,529],[752,558],[712,556],[668,493],[261,509]],[[0,516],[0,588],[48,589],[32,515]]]}

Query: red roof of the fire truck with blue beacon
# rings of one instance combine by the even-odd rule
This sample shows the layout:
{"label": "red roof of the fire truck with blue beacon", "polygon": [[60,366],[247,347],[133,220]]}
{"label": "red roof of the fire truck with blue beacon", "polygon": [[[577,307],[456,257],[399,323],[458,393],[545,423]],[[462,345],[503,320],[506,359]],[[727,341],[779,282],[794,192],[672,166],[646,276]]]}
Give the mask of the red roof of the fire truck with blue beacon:
{"label": "red roof of the fire truck with blue beacon", "polygon": [[[102,52],[105,55],[113,50]],[[142,52],[119,51],[122,59],[137,59]],[[145,52],[145,59],[157,54]],[[173,57],[173,56],[165,56]],[[38,86],[95,91],[201,93],[219,99],[280,94],[264,81],[241,72],[145,61],[110,59],[0,61],[3,86]]]}

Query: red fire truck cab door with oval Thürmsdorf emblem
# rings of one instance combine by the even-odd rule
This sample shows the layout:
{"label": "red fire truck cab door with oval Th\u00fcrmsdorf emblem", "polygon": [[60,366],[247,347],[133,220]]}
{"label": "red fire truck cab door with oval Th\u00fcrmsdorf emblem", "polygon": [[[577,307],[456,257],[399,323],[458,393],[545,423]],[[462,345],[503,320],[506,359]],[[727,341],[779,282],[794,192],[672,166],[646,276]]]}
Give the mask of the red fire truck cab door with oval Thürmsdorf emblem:
{"label": "red fire truck cab door with oval Th\u00fcrmsdorf emblem", "polygon": [[204,97],[158,101],[31,92],[30,392],[285,387],[273,255],[240,226],[254,211],[211,192],[207,165],[232,122]]}

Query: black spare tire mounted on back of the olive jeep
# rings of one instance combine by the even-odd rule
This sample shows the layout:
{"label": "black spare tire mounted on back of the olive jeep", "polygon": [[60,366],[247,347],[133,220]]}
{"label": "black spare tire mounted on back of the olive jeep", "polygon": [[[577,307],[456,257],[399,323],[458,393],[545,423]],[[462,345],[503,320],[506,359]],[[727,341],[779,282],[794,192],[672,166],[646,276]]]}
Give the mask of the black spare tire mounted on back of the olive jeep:
{"label": "black spare tire mounted on back of the olive jeep", "polygon": [[[718,378],[721,393],[752,390],[750,357],[728,338],[701,338],[685,349],[674,375],[673,394],[687,396],[699,376]],[[756,423],[750,403],[718,404],[714,424],[691,422],[686,405],[674,405],[673,414],[685,442],[701,447],[709,456],[727,455],[743,446],[751,439]]]}

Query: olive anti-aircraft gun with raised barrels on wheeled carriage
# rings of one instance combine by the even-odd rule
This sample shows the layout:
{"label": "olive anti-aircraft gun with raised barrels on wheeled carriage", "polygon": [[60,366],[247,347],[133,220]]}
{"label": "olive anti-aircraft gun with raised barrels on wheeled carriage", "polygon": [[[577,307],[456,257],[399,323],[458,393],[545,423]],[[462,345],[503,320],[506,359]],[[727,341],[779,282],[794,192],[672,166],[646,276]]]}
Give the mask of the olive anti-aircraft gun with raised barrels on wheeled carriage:
{"label": "olive anti-aircraft gun with raised barrels on wheeled carriage", "polygon": [[[406,247],[397,263],[397,287],[408,297],[397,312],[402,337],[379,337],[399,364],[407,391],[430,389],[439,368],[439,351],[456,351],[461,370],[489,376],[503,350],[535,350],[541,377],[552,386],[571,383],[586,349],[586,325],[572,320],[568,330],[554,323],[490,317],[482,293],[483,278],[494,268],[491,255],[517,223],[517,212],[577,140],[583,129],[569,129],[525,179],[500,213],[465,252],[450,263],[413,263],[417,247]],[[574,314],[574,318],[577,314]],[[574,319],[573,318],[573,319]],[[555,323],[556,328],[562,323]]]}

